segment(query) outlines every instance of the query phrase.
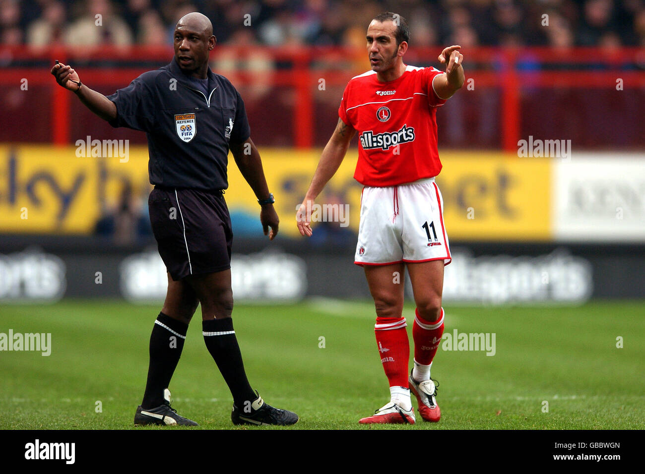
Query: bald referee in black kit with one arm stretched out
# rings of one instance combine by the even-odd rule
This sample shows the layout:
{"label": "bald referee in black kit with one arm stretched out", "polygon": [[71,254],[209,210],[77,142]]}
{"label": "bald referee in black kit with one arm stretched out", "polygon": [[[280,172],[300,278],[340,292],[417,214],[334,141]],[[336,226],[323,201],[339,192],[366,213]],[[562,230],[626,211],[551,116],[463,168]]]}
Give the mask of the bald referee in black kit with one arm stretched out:
{"label": "bald referee in black kit with one arm stretched out", "polygon": [[150,336],[148,380],[135,425],[197,425],[170,407],[168,386],[199,303],[206,348],[233,395],[233,424],[298,421],[295,413],[273,408],[253,391],[233,330],[233,232],[223,197],[229,150],[258,199],[270,240],[277,235],[279,219],[250,138],[244,102],[228,79],[208,67],[215,41],[208,17],[184,15],[175,27],[170,64],[108,97],[81,83],[70,66],[57,62],[52,68],[57,83],[96,115],[148,137],[148,172],[155,185],[148,207],[168,270],[168,293]]}

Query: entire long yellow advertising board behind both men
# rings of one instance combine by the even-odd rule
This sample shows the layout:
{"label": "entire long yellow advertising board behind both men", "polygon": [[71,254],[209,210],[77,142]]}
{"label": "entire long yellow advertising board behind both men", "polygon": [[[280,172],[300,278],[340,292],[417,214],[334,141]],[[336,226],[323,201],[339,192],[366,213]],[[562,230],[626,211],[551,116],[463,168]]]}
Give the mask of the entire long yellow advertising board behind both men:
{"label": "entire long yellow advertising board behind both men", "polygon": [[[264,173],[275,195],[280,232],[296,236],[296,206],[303,199],[320,150],[261,149]],[[132,146],[125,158],[77,156],[75,146],[0,146],[0,233],[91,234],[112,212],[124,185],[144,210],[148,149]],[[348,228],[357,232],[362,186],[353,179],[357,159],[350,150],[317,199],[348,204]],[[259,206],[230,157],[226,202],[233,215],[259,219]],[[452,241],[548,241],[551,230],[551,163],[501,153],[445,152],[437,178],[444,197],[444,222]],[[315,232],[315,226],[313,229]]]}

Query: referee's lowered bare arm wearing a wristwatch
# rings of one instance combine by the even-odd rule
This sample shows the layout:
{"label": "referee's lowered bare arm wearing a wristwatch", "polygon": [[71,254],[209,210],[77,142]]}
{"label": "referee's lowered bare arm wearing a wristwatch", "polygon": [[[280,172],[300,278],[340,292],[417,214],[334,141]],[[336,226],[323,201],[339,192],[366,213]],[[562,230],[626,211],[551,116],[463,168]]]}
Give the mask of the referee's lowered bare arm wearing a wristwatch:
{"label": "referee's lowered bare arm wearing a wristwatch", "polygon": [[[246,183],[251,186],[255,197],[259,201],[268,199],[269,187],[264,177],[262,159],[260,158],[260,152],[255,148],[253,140],[249,137],[242,143],[231,143],[230,150],[233,153],[237,168],[239,168],[242,176],[246,179]],[[273,240],[278,233],[278,223],[280,222],[277,212],[273,208],[273,204],[263,204],[261,206],[260,222],[262,222],[264,235],[268,235],[269,240]],[[269,231],[269,227],[271,231]]]}

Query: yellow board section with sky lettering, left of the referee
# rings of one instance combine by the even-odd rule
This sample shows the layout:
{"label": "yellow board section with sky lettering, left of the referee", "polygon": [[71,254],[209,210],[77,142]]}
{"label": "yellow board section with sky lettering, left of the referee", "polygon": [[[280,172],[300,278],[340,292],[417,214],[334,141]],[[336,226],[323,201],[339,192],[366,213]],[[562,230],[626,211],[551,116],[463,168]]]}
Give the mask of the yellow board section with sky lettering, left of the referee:
{"label": "yellow board section with sky lettering, left of the referee", "polygon": [[0,146],[0,232],[91,234],[124,183],[142,200],[150,193],[147,148],[124,162],[77,154],[75,146]]}

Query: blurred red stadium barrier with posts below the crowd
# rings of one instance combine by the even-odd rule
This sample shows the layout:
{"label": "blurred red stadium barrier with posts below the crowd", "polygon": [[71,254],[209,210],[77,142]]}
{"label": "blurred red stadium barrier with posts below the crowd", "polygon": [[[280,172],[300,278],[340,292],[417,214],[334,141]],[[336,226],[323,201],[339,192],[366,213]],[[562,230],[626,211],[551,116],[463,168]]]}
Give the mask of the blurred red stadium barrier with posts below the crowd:
{"label": "blurred red stadium barrier with posts below the crowd", "polygon": [[[434,65],[437,63],[437,54],[441,47],[436,48],[411,48],[408,58],[411,64]],[[253,86],[258,82],[258,74],[263,74],[263,81],[268,87],[274,89],[286,88],[293,95],[290,100],[290,110],[283,110],[290,114],[292,136],[289,143],[297,148],[310,148],[319,146],[321,139],[316,136],[317,127],[324,122],[326,126],[332,126],[335,119],[333,116],[332,104],[324,104],[324,117],[318,117],[315,105],[315,88],[319,85],[319,79],[323,78],[326,88],[339,88],[339,94],[335,97],[335,107],[342,94],[344,84],[355,74],[367,70],[366,55],[362,51],[348,48],[237,48],[235,46],[218,46],[215,48],[211,59],[216,63],[219,58],[227,55],[237,59],[248,57],[263,57],[270,64],[270,72],[254,72],[253,70],[235,70],[235,86]],[[43,136],[43,132],[36,133],[32,137],[25,130],[29,130],[33,110],[20,110],[13,112],[17,120],[23,122],[23,132],[20,135],[0,135],[0,141],[39,141],[54,144],[73,143],[72,139],[72,101],[75,100],[63,88],[57,86],[49,74],[55,59],[62,63],[77,64],[79,74],[84,83],[93,88],[104,86],[108,90],[114,90],[130,83],[134,77],[168,63],[172,57],[172,48],[168,47],[101,47],[101,48],[29,48],[16,46],[0,46],[0,63],[4,67],[0,70],[0,85],[3,92],[0,98],[3,101],[3,110],[6,110],[5,101],[8,101],[6,94],[12,88],[19,87],[21,79],[28,79],[30,87],[43,88],[43,99],[39,99],[39,106],[49,103],[48,110],[38,110],[39,114],[47,114],[49,121],[43,122],[41,128],[48,123],[50,135]],[[590,110],[595,108],[611,108],[611,97],[613,92],[630,94],[628,101],[624,103],[635,103],[635,110],[645,109],[645,52],[639,48],[469,48],[464,50],[466,63],[466,78],[473,79],[476,88],[485,90],[499,90],[499,141],[495,140],[493,148],[502,148],[506,151],[517,150],[517,141],[526,135],[526,129],[530,132],[530,111],[523,110],[526,104],[522,101],[530,101],[531,93],[527,90],[547,90],[550,92],[564,91],[564,101],[568,100],[568,94],[579,90],[602,90],[602,99],[591,99]],[[365,56],[365,57],[363,57]],[[142,64],[143,63],[143,64]],[[217,72],[217,70],[215,71]],[[226,75],[226,74],[224,74]],[[622,80],[622,90],[617,89],[617,81]],[[468,84],[464,85],[467,88]],[[110,89],[111,88],[111,89]],[[468,89],[467,89],[468,90]],[[596,95],[596,94],[593,94]],[[538,96],[539,97],[539,96]],[[573,95],[571,95],[573,97]],[[46,99],[48,98],[48,100]],[[468,100],[467,98],[464,100]],[[539,100],[539,99],[538,99]],[[593,102],[595,100],[596,102]],[[475,114],[483,115],[482,110]],[[554,112],[555,113],[555,112]],[[558,112],[561,114],[561,112]],[[629,115],[630,110],[618,111],[618,114]],[[17,114],[17,115],[15,115]],[[25,114],[21,117],[21,114]],[[466,112],[464,112],[466,114]],[[472,112],[470,112],[472,115]],[[548,115],[548,114],[547,114]],[[585,114],[582,114],[585,115]],[[270,120],[271,114],[267,113]],[[320,118],[320,120],[319,120]],[[638,121],[638,117],[631,117]],[[491,119],[490,117],[486,119]],[[591,120],[592,117],[587,117]],[[481,119],[480,117],[480,120]],[[528,124],[523,125],[523,122]],[[581,125],[579,125],[581,126]],[[553,127],[553,133],[558,133],[557,126]],[[287,132],[284,132],[287,133]],[[590,132],[593,135],[594,132]],[[626,136],[620,137],[620,143],[624,148],[635,148],[645,146],[645,130],[643,125],[636,123],[633,130],[628,130]],[[324,134],[323,134],[324,136]],[[328,136],[328,133],[327,133]],[[613,142],[608,139],[607,143]],[[584,140],[582,140],[584,145]],[[591,136],[593,143],[593,136]],[[619,146],[620,146],[619,143]],[[449,143],[450,145],[450,143]],[[459,144],[452,144],[459,146]],[[475,146],[478,146],[475,141]],[[486,145],[479,144],[479,148]]]}

